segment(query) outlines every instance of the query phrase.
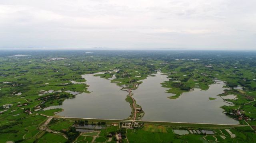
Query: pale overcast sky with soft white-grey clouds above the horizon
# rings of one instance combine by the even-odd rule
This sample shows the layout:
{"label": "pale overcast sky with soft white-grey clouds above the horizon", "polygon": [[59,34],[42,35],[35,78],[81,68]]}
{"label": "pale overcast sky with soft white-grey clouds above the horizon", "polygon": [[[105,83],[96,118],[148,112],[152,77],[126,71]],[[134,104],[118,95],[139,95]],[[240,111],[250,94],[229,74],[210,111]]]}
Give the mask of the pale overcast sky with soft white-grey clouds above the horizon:
{"label": "pale overcast sky with soft white-grey clouds above the horizon", "polygon": [[256,50],[256,0],[0,0],[0,49]]}

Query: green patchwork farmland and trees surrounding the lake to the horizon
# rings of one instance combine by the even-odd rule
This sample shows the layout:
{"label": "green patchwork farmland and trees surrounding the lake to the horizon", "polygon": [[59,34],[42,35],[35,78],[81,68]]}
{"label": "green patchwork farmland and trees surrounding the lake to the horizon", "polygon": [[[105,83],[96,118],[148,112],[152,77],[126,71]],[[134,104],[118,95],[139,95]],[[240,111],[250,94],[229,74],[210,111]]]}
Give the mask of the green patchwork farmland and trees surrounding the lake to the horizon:
{"label": "green patchwork farmland and trees surrounding the lake to the horizon", "polygon": [[[26,55],[14,56],[12,55]],[[90,136],[81,137],[73,124],[88,124],[88,121],[54,121],[49,128],[59,133],[40,129],[47,117],[61,109],[42,110],[44,107],[60,105],[66,98],[75,98],[72,92],[88,92],[89,85],[73,84],[72,81],[84,82],[81,74],[106,72],[99,74],[110,78],[112,70],[118,70],[111,82],[118,86],[141,84],[156,70],[168,75],[169,80],[162,83],[169,88],[167,92],[175,94],[168,100],[175,100],[183,92],[194,88],[207,90],[214,79],[225,81],[229,90],[220,96],[233,94],[237,100],[234,106],[223,106],[226,115],[238,119],[240,124],[250,125],[256,129],[256,52],[234,51],[1,51],[0,52],[0,143],[46,142],[51,138],[59,142],[92,141]],[[119,82],[116,82],[119,81]],[[242,89],[236,89],[241,86]],[[51,91],[52,90],[52,91]],[[126,99],[131,102],[131,99]],[[214,98],[210,98],[214,100]],[[142,107],[143,108],[143,107]],[[241,114],[237,114],[238,108]],[[145,113],[146,114],[146,113]],[[248,123],[248,124],[247,124]],[[90,124],[90,123],[89,123]],[[105,125],[105,121],[95,122]],[[111,125],[111,124],[110,124]],[[154,127],[153,127],[154,128]],[[177,141],[203,142],[203,135],[178,136],[170,130],[172,125],[164,127],[166,131],[148,131],[147,129],[128,130],[130,143]],[[221,142],[255,141],[255,133],[250,127],[232,128],[236,138],[218,139]],[[124,134],[124,130],[110,126],[103,129],[97,137],[104,142],[110,133]],[[125,130],[126,132],[126,130]],[[217,135],[220,135],[218,129]],[[224,131],[223,131],[224,132]],[[146,138],[142,138],[145,136]],[[155,137],[152,139],[152,137]],[[212,137],[205,137],[213,139]],[[141,140],[139,140],[141,139]],[[165,140],[164,140],[165,139]],[[218,141],[219,141],[218,140]],[[114,137],[112,139],[114,141]],[[125,142],[125,141],[124,141]]]}

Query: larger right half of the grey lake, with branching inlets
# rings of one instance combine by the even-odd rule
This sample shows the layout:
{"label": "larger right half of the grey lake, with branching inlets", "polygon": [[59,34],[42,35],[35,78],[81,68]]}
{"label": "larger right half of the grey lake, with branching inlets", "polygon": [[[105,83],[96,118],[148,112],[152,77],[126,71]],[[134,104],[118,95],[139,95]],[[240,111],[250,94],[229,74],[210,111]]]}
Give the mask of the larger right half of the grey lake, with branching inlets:
{"label": "larger right half of the grey lake, with branching inlets", "polygon": [[[217,96],[227,89],[222,88],[223,84],[212,84],[208,90],[196,88],[171,100],[167,97],[174,94],[166,93],[168,88],[160,84],[168,80],[167,76],[160,72],[154,75],[156,76],[142,80],[139,88],[132,91],[136,103],[142,106],[145,112],[142,120],[238,124],[238,121],[223,114],[224,110],[220,108],[229,105]],[[216,100],[209,100],[209,97]]]}

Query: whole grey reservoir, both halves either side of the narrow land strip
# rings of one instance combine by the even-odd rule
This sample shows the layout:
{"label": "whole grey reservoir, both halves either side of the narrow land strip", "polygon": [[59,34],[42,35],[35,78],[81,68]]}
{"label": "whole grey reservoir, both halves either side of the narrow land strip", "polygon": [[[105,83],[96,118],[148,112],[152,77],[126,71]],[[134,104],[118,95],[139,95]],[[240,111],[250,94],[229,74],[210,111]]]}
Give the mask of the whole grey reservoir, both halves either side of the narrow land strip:
{"label": "whole grey reservoir, both halves either side of the narrow land strip", "polygon": [[[120,90],[121,87],[110,80],[93,76],[82,75],[88,91],[76,95],[76,98],[66,99],[60,106],[51,108],[63,108],[58,116],[77,118],[100,119],[126,119],[131,114],[131,108],[125,101],[128,92]],[[229,118],[222,112],[220,106],[230,104],[223,102],[218,94],[223,93],[223,84],[211,84],[208,90],[195,88],[194,91],[185,92],[179,98],[171,100],[168,97],[174,94],[166,93],[169,88],[164,88],[160,83],[167,81],[167,75],[158,72],[155,76],[148,76],[142,80],[142,84],[136,90],[132,90],[136,103],[142,106],[145,112],[142,120],[148,121],[174,121],[192,123],[220,123],[238,124],[239,122]],[[216,100],[209,100],[209,97]]]}

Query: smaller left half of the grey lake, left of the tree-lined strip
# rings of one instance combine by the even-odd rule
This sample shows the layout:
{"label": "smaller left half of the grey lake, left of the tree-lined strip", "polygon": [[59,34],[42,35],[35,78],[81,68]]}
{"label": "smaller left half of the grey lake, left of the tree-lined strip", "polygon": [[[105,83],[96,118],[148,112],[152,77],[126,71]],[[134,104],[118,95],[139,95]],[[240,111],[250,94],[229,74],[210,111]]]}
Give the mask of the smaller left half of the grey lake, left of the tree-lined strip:
{"label": "smaller left half of the grey lake, left of the tree-lined strip", "polygon": [[110,80],[93,76],[94,74],[82,75],[86,84],[90,85],[88,91],[76,95],[76,98],[66,99],[60,106],[50,108],[62,108],[59,116],[79,118],[104,118],[104,119],[126,119],[131,114],[131,108],[125,98],[128,94],[120,90],[121,87],[111,83]]}

